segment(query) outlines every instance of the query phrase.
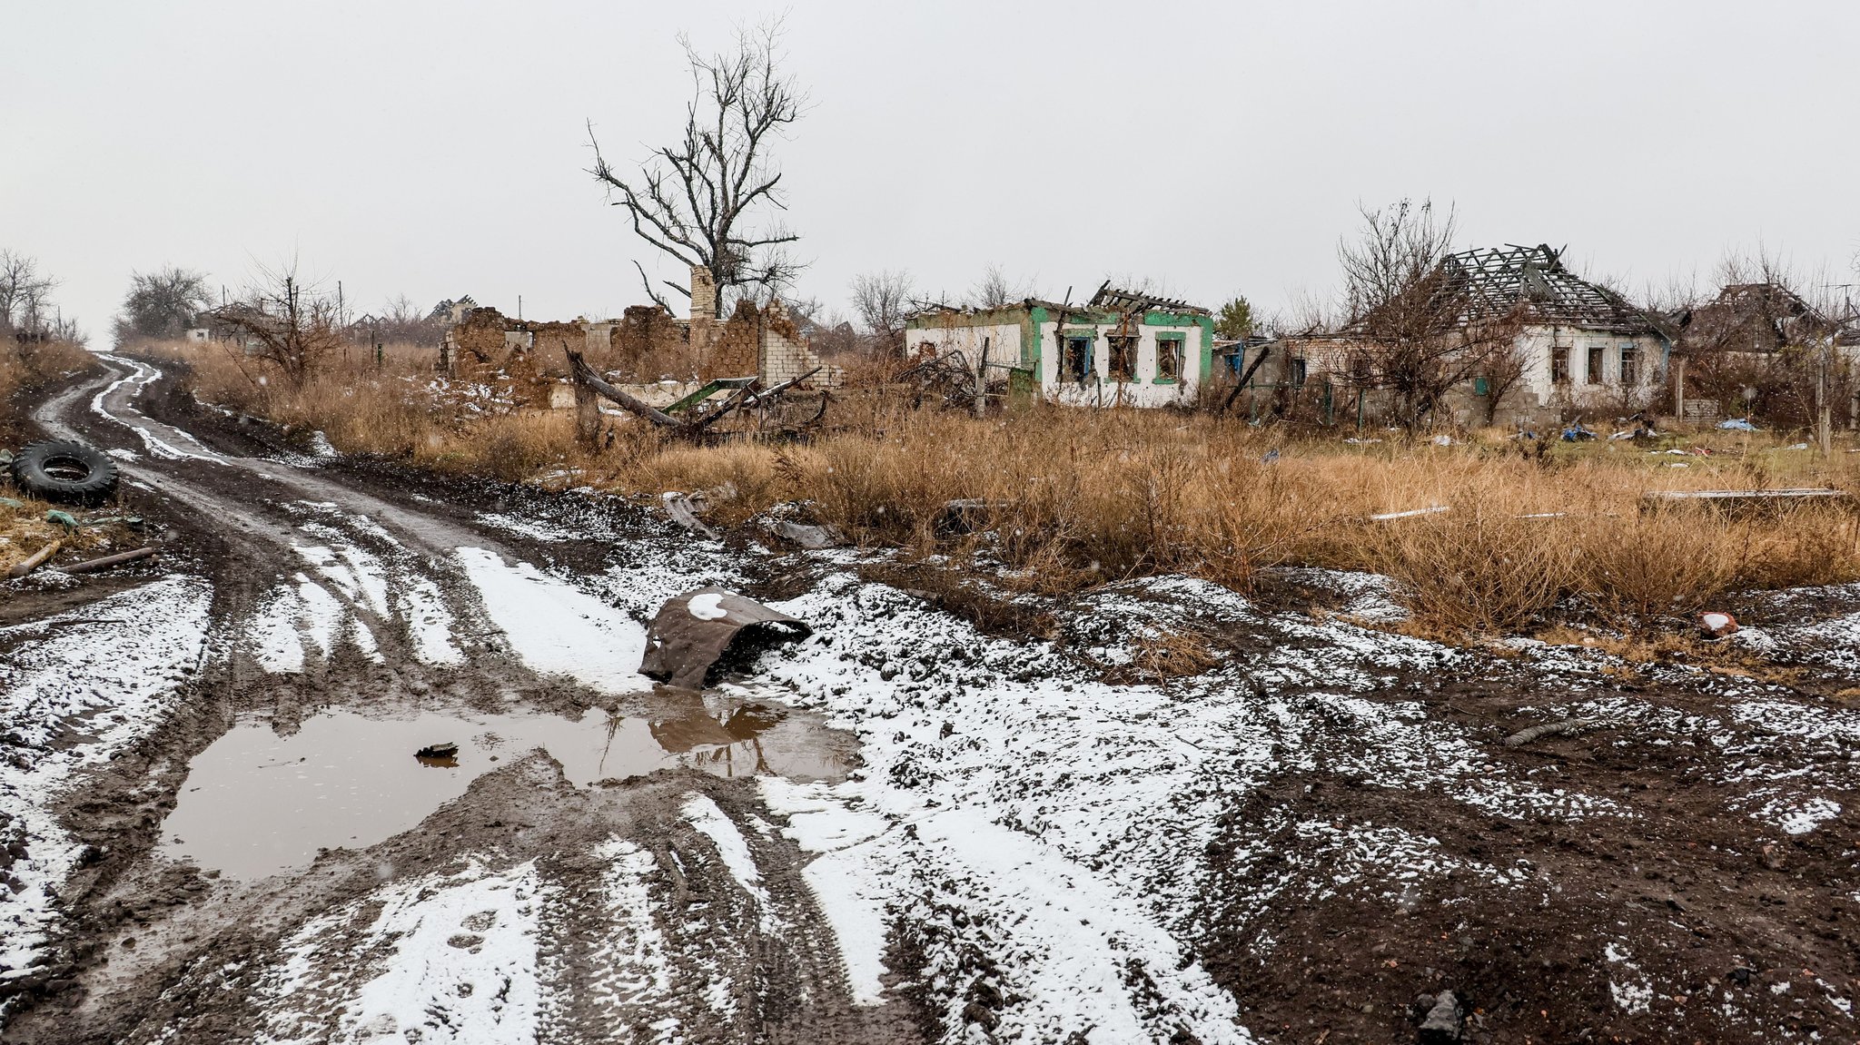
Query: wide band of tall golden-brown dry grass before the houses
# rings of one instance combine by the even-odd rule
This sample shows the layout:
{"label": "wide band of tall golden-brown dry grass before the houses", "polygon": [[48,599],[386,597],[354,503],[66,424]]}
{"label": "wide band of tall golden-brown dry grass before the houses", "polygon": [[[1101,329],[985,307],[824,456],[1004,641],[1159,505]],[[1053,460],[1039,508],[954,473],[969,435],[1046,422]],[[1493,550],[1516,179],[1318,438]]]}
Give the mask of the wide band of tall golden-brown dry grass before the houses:
{"label": "wide band of tall golden-brown dry grass before the houses", "polygon": [[[610,446],[584,452],[571,411],[508,411],[495,389],[471,398],[435,385],[430,351],[391,353],[381,370],[337,368],[298,394],[260,385],[223,353],[193,350],[190,361],[203,398],[320,428],[346,452],[629,495],[727,483],[737,496],[712,509],[716,522],[802,502],[865,545],[954,562],[986,549],[986,562],[1008,567],[1004,584],[1049,595],[1166,571],[1246,589],[1261,569],[1300,563],[1397,578],[1417,627],[1434,634],[1518,630],[1564,601],[1646,632],[1732,589],[1860,578],[1851,509],[1641,511],[1641,495],[1659,489],[1860,491],[1847,441],[1821,459],[1763,433],[1702,431],[1683,443],[1709,456],[1603,441],[1533,459],[1503,431],[1455,446],[1388,433],[1345,446],[1337,433],[1207,413],[1034,405],[976,420],[865,387],[835,403],[833,431],[805,444],[699,448],[618,422]],[[1263,461],[1272,450],[1278,459]],[[949,526],[952,500],[980,508]],[[1369,521],[1428,506],[1447,511]]]}

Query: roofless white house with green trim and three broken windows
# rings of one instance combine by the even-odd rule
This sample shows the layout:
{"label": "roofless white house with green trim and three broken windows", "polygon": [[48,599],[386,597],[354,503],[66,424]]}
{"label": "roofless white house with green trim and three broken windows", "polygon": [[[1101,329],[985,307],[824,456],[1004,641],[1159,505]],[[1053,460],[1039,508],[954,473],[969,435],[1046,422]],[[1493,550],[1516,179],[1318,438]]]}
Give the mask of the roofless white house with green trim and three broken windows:
{"label": "roofless white house with green trim and three broken windows", "polygon": [[928,309],[904,327],[904,351],[960,351],[991,381],[1066,405],[1161,407],[1196,402],[1213,366],[1207,309],[1116,290],[1086,305],[1029,298],[999,309]]}

